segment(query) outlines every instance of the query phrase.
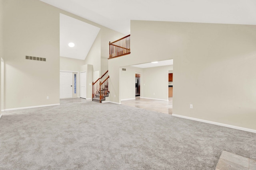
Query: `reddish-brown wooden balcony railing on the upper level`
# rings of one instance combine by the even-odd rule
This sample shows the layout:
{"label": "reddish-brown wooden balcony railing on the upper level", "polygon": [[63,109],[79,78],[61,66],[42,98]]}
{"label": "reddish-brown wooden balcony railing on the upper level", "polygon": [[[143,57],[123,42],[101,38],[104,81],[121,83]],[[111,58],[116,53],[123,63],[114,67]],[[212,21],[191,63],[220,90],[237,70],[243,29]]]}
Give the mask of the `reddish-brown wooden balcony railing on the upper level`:
{"label": "reddish-brown wooden balcony railing on the upper level", "polygon": [[130,35],[118,39],[112,43],[109,42],[109,59],[130,54]]}

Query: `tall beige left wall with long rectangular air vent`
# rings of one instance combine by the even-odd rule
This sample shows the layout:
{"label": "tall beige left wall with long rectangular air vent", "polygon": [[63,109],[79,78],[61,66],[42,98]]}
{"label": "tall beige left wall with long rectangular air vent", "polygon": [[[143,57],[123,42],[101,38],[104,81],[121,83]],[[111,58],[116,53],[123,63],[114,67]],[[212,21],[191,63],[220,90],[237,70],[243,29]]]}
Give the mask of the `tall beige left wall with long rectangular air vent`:
{"label": "tall beige left wall with long rectangular air vent", "polygon": [[[59,103],[59,14],[54,9],[37,0],[4,0],[4,109]],[[26,55],[46,62],[26,60]]]}

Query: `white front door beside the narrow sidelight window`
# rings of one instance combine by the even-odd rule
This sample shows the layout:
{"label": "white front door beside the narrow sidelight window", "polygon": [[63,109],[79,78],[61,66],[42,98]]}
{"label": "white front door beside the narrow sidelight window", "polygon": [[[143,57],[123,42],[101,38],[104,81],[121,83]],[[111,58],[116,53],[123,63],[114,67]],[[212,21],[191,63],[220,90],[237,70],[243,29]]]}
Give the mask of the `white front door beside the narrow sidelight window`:
{"label": "white front door beside the narrow sidelight window", "polygon": [[60,98],[72,98],[72,72],[60,71]]}

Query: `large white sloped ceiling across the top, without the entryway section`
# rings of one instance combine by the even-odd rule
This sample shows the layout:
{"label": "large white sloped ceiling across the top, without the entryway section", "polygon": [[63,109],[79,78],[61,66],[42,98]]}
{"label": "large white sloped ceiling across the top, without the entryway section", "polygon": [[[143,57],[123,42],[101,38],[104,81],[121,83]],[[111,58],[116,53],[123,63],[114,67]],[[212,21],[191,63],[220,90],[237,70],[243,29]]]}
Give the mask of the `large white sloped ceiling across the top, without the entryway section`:
{"label": "large white sloped ceiling across the top, without the entryway section", "polygon": [[256,25],[256,0],[41,0],[126,35],[130,20]]}

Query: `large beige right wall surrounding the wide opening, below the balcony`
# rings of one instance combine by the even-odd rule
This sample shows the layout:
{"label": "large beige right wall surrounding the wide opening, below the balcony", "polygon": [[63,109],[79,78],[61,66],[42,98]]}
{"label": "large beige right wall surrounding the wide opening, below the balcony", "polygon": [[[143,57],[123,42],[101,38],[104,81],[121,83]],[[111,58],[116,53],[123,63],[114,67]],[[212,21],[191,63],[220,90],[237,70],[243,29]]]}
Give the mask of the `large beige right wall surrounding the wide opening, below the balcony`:
{"label": "large beige right wall surrounding the wide opening, below the balcony", "polygon": [[120,66],[174,59],[174,114],[256,129],[255,29],[131,21],[131,54],[109,60],[110,92],[119,96]]}

